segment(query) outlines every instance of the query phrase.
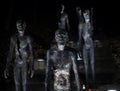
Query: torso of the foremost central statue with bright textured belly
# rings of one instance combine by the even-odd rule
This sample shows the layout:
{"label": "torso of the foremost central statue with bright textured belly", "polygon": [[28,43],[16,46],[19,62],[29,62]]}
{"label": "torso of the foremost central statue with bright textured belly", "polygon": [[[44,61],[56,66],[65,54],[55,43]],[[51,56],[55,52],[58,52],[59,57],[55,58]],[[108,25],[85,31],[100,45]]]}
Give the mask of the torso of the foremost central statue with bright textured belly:
{"label": "torso of the foremost central statue with bright textured belly", "polygon": [[58,50],[52,51],[51,54],[54,71],[54,89],[56,91],[69,91],[72,55],[69,51]]}

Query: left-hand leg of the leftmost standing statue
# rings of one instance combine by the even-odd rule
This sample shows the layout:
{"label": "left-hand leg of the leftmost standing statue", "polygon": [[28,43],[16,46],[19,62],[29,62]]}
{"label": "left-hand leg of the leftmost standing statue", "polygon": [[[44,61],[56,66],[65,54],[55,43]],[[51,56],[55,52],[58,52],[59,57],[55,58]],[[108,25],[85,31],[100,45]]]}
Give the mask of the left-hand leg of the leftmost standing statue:
{"label": "left-hand leg of the leftmost standing statue", "polygon": [[15,67],[14,68],[14,81],[15,81],[15,89],[16,91],[20,91],[20,68]]}

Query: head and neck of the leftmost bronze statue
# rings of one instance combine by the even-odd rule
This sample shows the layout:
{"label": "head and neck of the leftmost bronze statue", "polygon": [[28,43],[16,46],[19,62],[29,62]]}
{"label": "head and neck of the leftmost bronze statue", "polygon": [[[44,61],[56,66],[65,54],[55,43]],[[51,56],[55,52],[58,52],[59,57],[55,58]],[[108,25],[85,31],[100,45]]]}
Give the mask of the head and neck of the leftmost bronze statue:
{"label": "head and neck of the leftmost bronze statue", "polygon": [[19,33],[19,35],[24,35],[24,31],[25,31],[25,28],[26,28],[26,23],[25,23],[25,21],[23,21],[23,20],[18,20],[17,22],[16,22],[16,28],[17,28],[17,30],[18,30],[18,33]]}

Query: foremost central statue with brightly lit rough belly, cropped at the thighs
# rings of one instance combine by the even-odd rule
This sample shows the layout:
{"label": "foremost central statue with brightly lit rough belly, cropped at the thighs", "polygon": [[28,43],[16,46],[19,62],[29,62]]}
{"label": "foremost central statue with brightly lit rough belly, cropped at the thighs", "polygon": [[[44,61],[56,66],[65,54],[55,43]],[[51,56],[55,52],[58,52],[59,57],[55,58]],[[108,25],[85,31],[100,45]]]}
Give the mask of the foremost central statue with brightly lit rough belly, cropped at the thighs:
{"label": "foremost central statue with brightly lit rough belly, cropped at the thighs", "polygon": [[54,91],[71,91],[71,70],[73,70],[75,75],[76,91],[80,91],[76,57],[75,54],[66,47],[68,33],[58,29],[55,32],[55,40],[57,46],[47,51],[45,91],[49,91],[50,89],[52,73],[54,78]]}

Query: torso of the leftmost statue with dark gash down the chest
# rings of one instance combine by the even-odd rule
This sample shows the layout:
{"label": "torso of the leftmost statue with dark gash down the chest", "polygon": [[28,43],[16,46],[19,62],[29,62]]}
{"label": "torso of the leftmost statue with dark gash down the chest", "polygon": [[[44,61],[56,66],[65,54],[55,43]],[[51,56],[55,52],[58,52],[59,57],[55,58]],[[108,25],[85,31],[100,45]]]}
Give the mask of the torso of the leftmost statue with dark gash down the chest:
{"label": "torso of the leftmost statue with dark gash down the chest", "polygon": [[15,46],[15,54],[16,59],[15,63],[17,65],[26,64],[26,59],[28,57],[28,37],[16,37],[16,46]]}

